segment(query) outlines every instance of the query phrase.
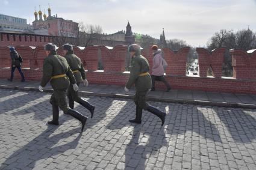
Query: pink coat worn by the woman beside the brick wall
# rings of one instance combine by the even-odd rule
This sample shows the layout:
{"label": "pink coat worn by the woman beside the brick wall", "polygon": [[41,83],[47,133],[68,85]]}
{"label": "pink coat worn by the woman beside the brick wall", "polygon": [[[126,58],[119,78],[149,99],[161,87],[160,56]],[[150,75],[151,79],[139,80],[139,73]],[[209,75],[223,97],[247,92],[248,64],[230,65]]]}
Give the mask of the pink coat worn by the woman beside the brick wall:
{"label": "pink coat worn by the woman beside the brick wall", "polygon": [[158,49],[153,57],[153,67],[152,67],[152,75],[154,76],[163,76],[164,75],[164,67],[163,67],[163,58],[161,55],[161,49]]}

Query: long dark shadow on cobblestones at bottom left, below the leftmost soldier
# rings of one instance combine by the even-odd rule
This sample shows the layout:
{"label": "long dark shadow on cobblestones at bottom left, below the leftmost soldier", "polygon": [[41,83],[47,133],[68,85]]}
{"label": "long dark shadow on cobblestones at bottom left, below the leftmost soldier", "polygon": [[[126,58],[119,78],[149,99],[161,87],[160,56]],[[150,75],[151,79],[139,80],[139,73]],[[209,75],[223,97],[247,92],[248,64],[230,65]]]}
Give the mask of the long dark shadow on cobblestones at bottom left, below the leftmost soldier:
{"label": "long dark shadow on cobblestones at bottom left, below the leftmost soldier", "polygon": [[[11,154],[11,156],[2,163],[0,169],[13,169],[14,167],[11,167],[12,163],[17,163],[15,168],[35,168],[36,162],[39,160],[44,161],[43,159],[48,159],[49,157],[54,157],[57,154],[76,148],[82,135],[80,128],[51,136],[56,129],[58,129],[57,126],[48,126],[39,136]],[[76,133],[79,134],[75,137]],[[63,145],[54,146],[57,145],[58,141],[61,139],[70,136],[74,136],[75,139]]]}

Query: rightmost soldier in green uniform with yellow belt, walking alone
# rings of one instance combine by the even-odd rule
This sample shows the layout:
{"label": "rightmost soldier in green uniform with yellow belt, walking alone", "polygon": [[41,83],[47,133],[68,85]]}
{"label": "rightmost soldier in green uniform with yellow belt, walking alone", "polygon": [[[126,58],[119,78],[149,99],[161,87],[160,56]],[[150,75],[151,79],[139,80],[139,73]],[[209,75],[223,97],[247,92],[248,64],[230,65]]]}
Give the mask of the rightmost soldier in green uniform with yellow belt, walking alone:
{"label": "rightmost soldier in green uniform with yellow belt, walking alone", "polygon": [[131,123],[142,123],[142,110],[149,111],[159,117],[162,121],[161,126],[164,124],[166,112],[162,112],[154,106],[146,103],[146,95],[152,87],[151,76],[149,74],[149,63],[146,58],[140,55],[140,46],[133,44],[129,46],[131,59],[131,72],[128,82],[125,85],[125,91],[135,83],[136,94],[134,96],[134,103],[136,104],[136,118],[130,120]]}

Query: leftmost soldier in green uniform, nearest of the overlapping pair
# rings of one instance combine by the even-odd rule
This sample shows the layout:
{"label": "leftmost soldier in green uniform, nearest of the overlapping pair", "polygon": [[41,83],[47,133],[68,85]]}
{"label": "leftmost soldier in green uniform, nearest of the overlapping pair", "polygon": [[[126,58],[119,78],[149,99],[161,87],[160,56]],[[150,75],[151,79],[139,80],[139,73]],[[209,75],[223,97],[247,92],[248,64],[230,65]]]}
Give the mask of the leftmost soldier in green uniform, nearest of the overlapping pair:
{"label": "leftmost soldier in green uniform, nearest of the overlapping pair", "polygon": [[72,84],[73,90],[78,91],[75,77],[67,64],[64,57],[57,55],[55,44],[49,43],[45,45],[45,52],[47,57],[43,62],[43,77],[39,86],[39,91],[43,92],[43,87],[50,81],[54,90],[50,103],[52,104],[52,121],[48,124],[58,125],[58,108],[64,114],[71,115],[82,123],[82,132],[86,124],[87,117],[79,112],[70,109],[66,103],[66,90],[69,84]]}

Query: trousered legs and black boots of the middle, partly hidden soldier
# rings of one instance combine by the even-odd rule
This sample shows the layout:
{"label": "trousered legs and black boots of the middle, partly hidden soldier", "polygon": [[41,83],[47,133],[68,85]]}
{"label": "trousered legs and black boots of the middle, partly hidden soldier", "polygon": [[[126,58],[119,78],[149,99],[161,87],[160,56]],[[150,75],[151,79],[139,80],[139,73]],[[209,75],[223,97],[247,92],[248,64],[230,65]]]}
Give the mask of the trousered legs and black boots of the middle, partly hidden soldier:
{"label": "trousered legs and black boots of the middle, partly hidden soldier", "polygon": [[[77,83],[77,85],[79,86],[80,83]],[[71,109],[73,109],[74,107],[74,101],[79,103],[80,105],[84,106],[84,108],[88,109],[91,114],[93,115],[93,111],[95,106],[91,105],[89,102],[87,102],[86,100],[82,99],[79,95],[78,95],[78,91],[73,90],[73,85],[70,85],[68,90],[67,90],[67,97],[69,98],[69,107]]]}

